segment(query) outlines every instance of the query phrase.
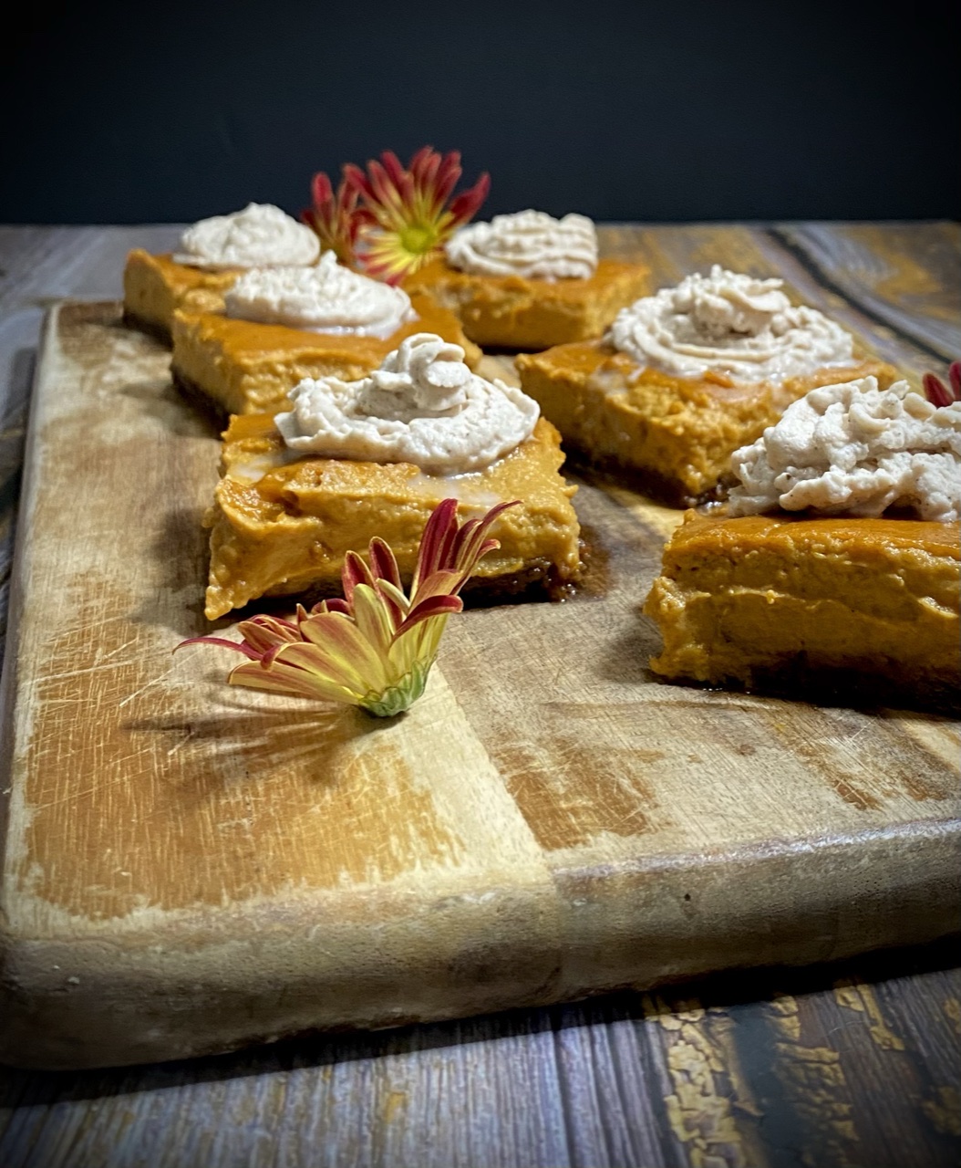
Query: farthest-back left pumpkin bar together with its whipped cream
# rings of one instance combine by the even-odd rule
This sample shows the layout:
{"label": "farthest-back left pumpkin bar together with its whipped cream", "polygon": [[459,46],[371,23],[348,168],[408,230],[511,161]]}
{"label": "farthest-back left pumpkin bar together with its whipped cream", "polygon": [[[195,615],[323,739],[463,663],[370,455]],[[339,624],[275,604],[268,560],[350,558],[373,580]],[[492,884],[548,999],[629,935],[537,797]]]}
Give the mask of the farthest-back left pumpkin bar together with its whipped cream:
{"label": "farthest-back left pumpkin bar together with its whipped cream", "polygon": [[319,255],[314,232],[267,203],[201,220],[183,232],[173,255],[140,248],[128,253],[124,320],[169,345],[179,308],[223,312],[225,292],[248,269],[306,266]]}

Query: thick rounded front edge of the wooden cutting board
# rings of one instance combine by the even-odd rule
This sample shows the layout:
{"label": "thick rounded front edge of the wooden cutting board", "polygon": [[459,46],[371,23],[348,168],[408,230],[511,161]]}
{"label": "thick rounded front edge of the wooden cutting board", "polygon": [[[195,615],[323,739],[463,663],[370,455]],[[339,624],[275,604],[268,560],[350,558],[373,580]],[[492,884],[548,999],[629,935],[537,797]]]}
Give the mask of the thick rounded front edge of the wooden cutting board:
{"label": "thick rounded front edge of the wooden cutting board", "polygon": [[[246,905],[239,941],[218,937],[209,912],[184,912],[131,945],[6,934],[0,1062],[44,1070],[163,1062],[314,1029],[443,1021],[648,989],[718,968],[810,965],[924,944],[957,930],[959,857],[961,823],[945,820],[781,850],[739,848],[694,865],[668,856],[557,872],[556,898],[500,889],[483,904],[465,895],[420,905],[395,918],[387,947],[377,922],[353,922],[342,938],[351,959],[340,965],[318,953],[315,930],[335,927],[322,896]],[[908,870],[910,880],[899,878]],[[586,883],[601,896],[585,909]],[[801,887],[799,917],[792,908]],[[387,911],[390,894],[383,899]],[[689,905],[697,911],[689,915]],[[596,918],[590,925],[584,912]],[[516,944],[523,922],[525,950]],[[398,968],[398,929],[454,940],[420,967]],[[503,933],[509,946],[499,945]]]}

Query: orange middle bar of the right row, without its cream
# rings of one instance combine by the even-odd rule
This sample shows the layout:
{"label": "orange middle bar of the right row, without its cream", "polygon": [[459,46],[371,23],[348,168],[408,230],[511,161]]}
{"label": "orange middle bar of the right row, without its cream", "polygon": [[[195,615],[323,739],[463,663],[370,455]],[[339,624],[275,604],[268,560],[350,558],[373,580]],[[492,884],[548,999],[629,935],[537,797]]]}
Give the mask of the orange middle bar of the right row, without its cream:
{"label": "orange middle bar of the right row, without its cream", "polygon": [[521,388],[569,452],[676,506],[710,498],[730,472],[731,454],[808,390],[869,374],[886,388],[898,377],[892,366],[866,359],[779,385],[722,374],[682,378],[640,367],[603,340],[522,353],[516,366]]}

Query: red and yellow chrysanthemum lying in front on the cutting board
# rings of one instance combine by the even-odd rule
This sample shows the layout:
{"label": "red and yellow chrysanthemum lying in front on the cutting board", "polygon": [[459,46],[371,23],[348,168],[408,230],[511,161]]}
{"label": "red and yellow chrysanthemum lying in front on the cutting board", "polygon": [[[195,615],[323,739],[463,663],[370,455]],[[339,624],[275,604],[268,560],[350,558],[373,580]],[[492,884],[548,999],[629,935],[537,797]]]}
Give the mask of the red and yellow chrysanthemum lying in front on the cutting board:
{"label": "red and yellow chrysanthemum lying in front on the cutting board", "polygon": [[238,625],[243,640],[193,637],[183,645],[221,645],[246,661],[231,670],[232,686],[320,697],[390,717],[423,693],[447,617],[460,612],[458,595],[478,562],[500,547],[486,538],[502,510],[458,523],[457,500],[445,499],[424,528],[410,596],[401,588],[394,552],[370,541],[370,565],[348,551],[343,599],[322,600],[293,620],[257,616]]}

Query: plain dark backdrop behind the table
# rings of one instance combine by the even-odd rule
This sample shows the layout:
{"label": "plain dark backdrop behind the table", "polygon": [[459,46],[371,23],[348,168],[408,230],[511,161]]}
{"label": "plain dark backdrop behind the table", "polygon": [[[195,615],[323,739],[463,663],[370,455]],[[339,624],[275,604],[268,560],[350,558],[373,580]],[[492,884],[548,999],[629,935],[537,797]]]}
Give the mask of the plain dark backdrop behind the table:
{"label": "plain dark backdrop behind the table", "polygon": [[[956,4],[56,4],[7,25],[0,221],[297,213],[387,147],[482,217],[956,217]],[[6,20],[11,20],[8,13]]]}

